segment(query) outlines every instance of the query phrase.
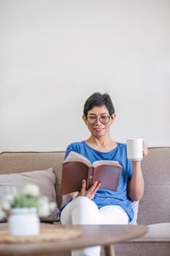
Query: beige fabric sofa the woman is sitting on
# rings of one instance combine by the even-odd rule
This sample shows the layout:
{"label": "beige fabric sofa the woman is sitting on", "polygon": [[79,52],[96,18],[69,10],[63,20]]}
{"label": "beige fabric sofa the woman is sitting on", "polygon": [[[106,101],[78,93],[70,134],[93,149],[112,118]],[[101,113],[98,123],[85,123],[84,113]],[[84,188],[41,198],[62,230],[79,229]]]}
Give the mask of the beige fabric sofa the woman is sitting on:
{"label": "beige fabric sofa the woman is sitting on", "polygon": [[[3,152],[0,154],[0,194],[3,190],[3,181],[7,173],[24,173],[29,174],[33,170],[43,170],[41,178],[36,175],[28,175],[27,178],[36,179],[39,183],[42,181],[42,173],[45,173],[50,167],[53,167],[55,173],[55,192],[58,208],[61,206],[61,170],[64,152]],[[128,243],[116,246],[117,256],[151,256],[170,255],[170,147],[149,148],[148,156],[142,162],[144,173],[145,190],[144,197],[139,203],[138,224],[149,225],[149,233],[142,238]],[[28,174],[27,173],[27,174]],[[1,176],[1,174],[3,174]],[[24,176],[23,176],[24,177]],[[34,178],[35,177],[35,178]],[[7,177],[8,178],[8,177]],[[24,177],[25,178],[25,177]],[[46,178],[46,176],[45,176]],[[12,181],[20,180],[12,176]],[[21,177],[22,180],[22,177]],[[11,182],[10,181],[10,184]],[[51,178],[49,182],[53,182]],[[48,184],[47,186],[50,186]],[[48,190],[48,196],[53,197],[52,192],[45,184],[42,184],[42,190]],[[49,195],[50,193],[50,195]],[[45,222],[58,221],[58,211],[44,219]],[[0,228],[1,228],[0,224]],[[51,224],[49,224],[51,225]],[[101,250],[101,254],[104,255]],[[58,254],[59,255],[59,254]],[[70,252],[61,255],[70,255]]]}

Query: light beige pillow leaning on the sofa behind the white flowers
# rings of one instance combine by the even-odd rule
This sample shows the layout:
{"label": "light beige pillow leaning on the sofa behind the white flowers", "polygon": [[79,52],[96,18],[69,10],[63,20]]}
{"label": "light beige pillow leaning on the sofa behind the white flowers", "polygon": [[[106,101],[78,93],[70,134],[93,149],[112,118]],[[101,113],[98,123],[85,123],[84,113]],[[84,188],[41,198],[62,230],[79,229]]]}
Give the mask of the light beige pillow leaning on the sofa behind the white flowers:
{"label": "light beige pillow leaning on the sofa behind the white flowers", "polygon": [[[32,170],[23,173],[0,174],[0,197],[11,187],[23,187],[26,183],[36,184],[42,195],[56,203],[55,173],[53,168],[47,170]],[[42,222],[58,221],[58,206],[48,217],[41,217]]]}

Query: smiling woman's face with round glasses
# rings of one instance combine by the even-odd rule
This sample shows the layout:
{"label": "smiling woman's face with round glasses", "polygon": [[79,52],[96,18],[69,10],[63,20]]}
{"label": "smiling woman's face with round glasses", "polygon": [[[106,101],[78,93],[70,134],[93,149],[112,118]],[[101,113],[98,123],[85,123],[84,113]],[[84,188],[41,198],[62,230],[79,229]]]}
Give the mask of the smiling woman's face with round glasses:
{"label": "smiling woman's face with round glasses", "polygon": [[[82,116],[88,129],[96,138],[107,135],[112,123],[115,121],[115,114],[109,116],[109,111],[105,105],[95,106],[88,111],[87,118]],[[100,120],[99,120],[100,118]]]}

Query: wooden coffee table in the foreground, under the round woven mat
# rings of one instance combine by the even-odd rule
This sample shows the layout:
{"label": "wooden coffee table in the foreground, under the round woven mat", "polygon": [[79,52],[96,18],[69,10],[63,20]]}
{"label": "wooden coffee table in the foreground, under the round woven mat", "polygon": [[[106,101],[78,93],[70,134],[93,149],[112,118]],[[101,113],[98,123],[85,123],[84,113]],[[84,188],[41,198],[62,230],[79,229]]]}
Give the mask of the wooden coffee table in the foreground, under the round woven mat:
{"label": "wooden coffee table in the foreground, under the round woven mat", "polygon": [[[7,228],[4,224],[4,228]],[[41,224],[43,228],[49,225]],[[0,244],[1,256],[47,255],[50,253],[72,251],[89,246],[104,246],[106,256],[114,256],[114,244],[120,244],[147,233],[143,225],[50,225],[50,228],[80,230],[81,236],[63,241],[43,241],[38,244]]]}

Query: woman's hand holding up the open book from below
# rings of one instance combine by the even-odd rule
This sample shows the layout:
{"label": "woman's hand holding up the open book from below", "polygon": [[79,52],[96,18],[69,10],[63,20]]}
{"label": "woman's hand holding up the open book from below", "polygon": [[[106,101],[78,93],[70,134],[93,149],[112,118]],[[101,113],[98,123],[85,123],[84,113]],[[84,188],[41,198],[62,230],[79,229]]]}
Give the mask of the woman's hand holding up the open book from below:
{"label": "woman's hand holding up the open book from below", "polygon": [[86,181],[85,179],[82,180],[82,187],[79,192],[78,196],[84,196],[88,197],[90,199],[94,198],[94,195],[96,194],[97,190],[101,187],[101,182],[100,181],[94,181],[92,186],[89,189],[86,189]]}

